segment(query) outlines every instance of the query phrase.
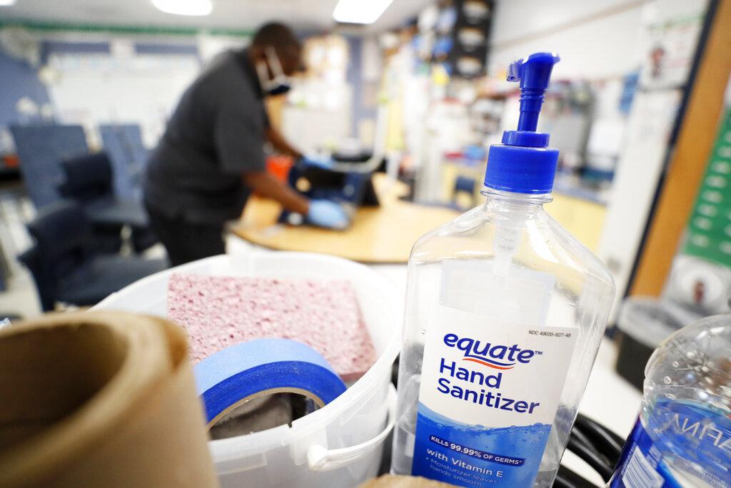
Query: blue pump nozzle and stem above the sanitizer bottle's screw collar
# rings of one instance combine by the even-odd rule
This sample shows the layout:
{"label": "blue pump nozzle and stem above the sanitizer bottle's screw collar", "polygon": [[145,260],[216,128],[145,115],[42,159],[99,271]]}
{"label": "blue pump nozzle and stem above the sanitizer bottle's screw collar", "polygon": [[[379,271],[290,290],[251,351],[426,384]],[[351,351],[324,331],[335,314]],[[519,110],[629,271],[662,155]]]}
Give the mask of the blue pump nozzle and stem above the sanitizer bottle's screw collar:
{"label": "blue pump nozzle and stem above the sanitizer bottle's screw collar", "polygon": [[536,131],[550,72],[559,60],[556,53],[535,53],[510,64],[507,80],[520,81],[518,131]]}

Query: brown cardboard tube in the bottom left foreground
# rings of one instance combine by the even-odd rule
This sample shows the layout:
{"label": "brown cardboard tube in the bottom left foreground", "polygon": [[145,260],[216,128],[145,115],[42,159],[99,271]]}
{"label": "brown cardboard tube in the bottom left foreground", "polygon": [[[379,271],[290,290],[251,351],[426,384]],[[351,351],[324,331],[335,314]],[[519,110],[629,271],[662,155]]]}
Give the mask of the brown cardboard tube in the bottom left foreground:
{"label": "brown cardboard tube in the bottom left foreground", "polygon": [[0,487],[217,487],[183,331],[118,312],[0,330]]}

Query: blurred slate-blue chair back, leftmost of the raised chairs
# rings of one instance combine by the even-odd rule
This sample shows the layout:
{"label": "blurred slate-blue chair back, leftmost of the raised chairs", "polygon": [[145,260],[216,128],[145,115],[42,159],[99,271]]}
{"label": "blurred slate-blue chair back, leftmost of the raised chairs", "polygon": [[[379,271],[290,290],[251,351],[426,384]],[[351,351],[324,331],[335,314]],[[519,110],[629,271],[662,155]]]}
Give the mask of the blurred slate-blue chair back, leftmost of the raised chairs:
{"label": "blurred slate-blue chair back, leftmost of the raised chairs", "polygon": [[61,199],[58,185],[64,174],[63,159],[88,153],[81,126],[10,126],[20,172],[31,201],[37,208]]}

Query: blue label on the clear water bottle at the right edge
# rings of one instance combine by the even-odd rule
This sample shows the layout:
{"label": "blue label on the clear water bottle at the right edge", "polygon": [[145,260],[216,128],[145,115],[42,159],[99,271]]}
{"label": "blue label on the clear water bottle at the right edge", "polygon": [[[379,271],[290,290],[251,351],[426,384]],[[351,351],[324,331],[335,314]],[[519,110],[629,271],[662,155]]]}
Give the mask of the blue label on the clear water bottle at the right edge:
{"label": "blue label on the clear water bottle at the right edge", "polygon": [[612,488],[731,488],[731,418],[708,405],[663,400],[637,419]]}

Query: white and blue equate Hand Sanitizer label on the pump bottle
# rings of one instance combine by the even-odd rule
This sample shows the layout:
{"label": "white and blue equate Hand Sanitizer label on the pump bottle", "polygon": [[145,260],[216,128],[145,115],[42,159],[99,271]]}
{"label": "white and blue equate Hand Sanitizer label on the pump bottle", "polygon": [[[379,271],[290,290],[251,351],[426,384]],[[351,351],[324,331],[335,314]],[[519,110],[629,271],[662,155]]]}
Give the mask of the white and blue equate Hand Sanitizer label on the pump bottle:
{"label": "white and blue equate Hand Sanitizer label on the pump bottle", "polygon": [[[450,283],[469,283],[468,275],[485,271],[455,266],[444,267],[440,304],[425,334],[412,474],[462,487],[530,486],[556,417],[577,328],[538,324],[553,287],[553,278],[539,272],[511,270],[510,280],[499,283],[504,293],[495,295],[502,303],[490,305],[485,294],[480,310],[472,302],[449,306],[459,305],[450,297]],[[482,278],[496,279],[490,270]],[[480,284],[484,290],[485,281]],[[523,294],[511,298],[505,291],[512,289]],[[505,320],[510,314],[523,320]]]}

